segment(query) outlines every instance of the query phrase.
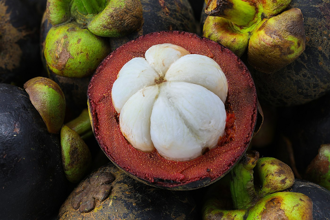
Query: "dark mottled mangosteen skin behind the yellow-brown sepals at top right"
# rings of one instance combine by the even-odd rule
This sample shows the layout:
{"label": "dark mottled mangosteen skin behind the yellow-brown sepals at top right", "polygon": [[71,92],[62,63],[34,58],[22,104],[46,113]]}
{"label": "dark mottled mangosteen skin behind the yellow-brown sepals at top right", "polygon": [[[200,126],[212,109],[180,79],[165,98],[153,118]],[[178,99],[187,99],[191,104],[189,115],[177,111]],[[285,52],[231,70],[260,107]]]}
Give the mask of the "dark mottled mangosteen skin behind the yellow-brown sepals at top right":
{"label": "dark mottled mangosteen skin behind the yellow-brown sepals at top right", "polygon": [[299,8],[303,14],[305,51],[273,74],[261,73],[248,66],[260,101],[274,106],[304,104],[330,91],[330,3],[326,0],[292,0],[288,8]]}

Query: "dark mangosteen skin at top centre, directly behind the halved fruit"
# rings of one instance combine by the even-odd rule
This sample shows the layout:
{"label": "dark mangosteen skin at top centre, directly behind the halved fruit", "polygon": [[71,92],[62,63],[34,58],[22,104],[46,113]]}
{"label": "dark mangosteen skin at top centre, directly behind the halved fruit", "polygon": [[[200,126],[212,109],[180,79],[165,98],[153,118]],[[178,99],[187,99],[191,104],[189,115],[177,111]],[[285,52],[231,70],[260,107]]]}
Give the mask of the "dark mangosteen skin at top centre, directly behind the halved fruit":
{"label": "dark mangosteen skin at top centre, directly behind the halved fruit", "polygon": [[141,0],[144,24],[138,31],[125,37],[111,38],[112,51],[141,35],[162,31],[181,30],[196,33],[196,21],[188,0]]}

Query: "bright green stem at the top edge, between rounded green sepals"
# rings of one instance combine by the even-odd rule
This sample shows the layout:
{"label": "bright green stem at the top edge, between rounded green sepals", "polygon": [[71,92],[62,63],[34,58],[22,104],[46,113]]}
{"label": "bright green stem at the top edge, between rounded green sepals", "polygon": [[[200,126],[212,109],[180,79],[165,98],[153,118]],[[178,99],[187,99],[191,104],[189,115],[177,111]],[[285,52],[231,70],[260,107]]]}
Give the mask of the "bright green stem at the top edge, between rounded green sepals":
{"label": "bright green stem at the top edge, between rounded green sepals", "polygon": [[106,0],[74,0],[78,12],[83,15],[96,15],[104,9]]}

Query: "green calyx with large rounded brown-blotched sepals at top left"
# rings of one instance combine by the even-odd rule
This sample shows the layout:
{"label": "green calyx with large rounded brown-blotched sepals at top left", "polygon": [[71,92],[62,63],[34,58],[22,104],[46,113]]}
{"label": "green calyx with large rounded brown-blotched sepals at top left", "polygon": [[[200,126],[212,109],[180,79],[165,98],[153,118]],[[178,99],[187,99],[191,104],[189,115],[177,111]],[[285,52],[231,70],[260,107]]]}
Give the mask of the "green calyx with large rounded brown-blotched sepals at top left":
{"label": "green calyx with large rounded brown-blotched sepals at top left", "polygon": [[141,28],[140,0],[48,0],[47,18],[53,25],[45,40],[45,59],[57,75],[91,75],[111,52],[108,37]]}

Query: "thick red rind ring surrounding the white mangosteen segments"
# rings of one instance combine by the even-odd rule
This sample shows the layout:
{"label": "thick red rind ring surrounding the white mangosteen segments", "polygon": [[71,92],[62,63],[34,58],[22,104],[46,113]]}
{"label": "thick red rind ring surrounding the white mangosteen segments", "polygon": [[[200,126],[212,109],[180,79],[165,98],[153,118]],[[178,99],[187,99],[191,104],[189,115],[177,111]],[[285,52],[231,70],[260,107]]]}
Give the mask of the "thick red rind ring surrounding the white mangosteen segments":
{"label": "thick red rind ring surrounding the white mangosteen segments", "polygon": [[[188,162],[169,161],[157,151],[144,153],[128,144],[120,131],[111,100],[112,85],[121,67],[134,57],[144,57],[152,45],[163,43],[176,44],[191,54],[213,58],[228,81],[227,104],[235,115],[236,126],[233,139]],[[94,134],[106,155],[123,170],[160,187],[182,186],[204,178],[214,181],[228,172],[245,153],[257,117],[255,86],[245,64],[222,45],[182,31],[150,33],[117,48],[97,68],[87,95]]]}

